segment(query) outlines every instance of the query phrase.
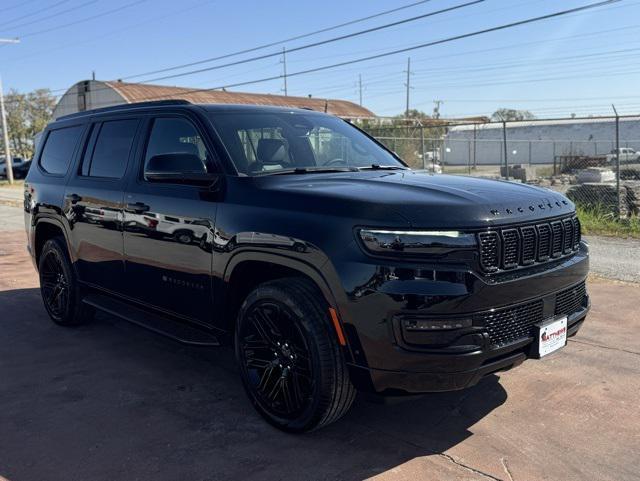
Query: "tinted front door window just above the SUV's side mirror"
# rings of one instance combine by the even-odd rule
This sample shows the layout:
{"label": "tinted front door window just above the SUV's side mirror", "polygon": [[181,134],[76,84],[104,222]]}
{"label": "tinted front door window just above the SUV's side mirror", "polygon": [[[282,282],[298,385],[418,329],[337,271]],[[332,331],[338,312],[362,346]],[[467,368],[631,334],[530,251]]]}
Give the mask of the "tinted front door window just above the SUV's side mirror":
{"label": "tinted front door window just above the SUV's side mirror", "polygon": [[149,159],[163,154],[192,154],[202,162],[202,170],[210,169],[207,149],[195,126],[181,118],[160,118],[153,122],[144,165]]}

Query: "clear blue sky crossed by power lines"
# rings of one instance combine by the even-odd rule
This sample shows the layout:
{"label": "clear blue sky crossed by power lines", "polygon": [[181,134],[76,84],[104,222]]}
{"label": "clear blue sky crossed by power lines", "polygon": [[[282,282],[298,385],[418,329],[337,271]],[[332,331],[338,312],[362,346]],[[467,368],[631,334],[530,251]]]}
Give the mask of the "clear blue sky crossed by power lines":
{"label": "clear blue sky crossed by power lines", "polygon": [[[312,37],[288,49],[466,3],[423,4]],[[596,0],[485,0],[453,12],[287,55],[288,72],[410,47]],[[0,2],[0,46],[5,90],[50,88],[56,94],[96,72],[100,80],[128,77],[277,42],[366,17],[415,0],[5,0]],[[95,17],[95,18],[92,18]],[[282,49],[270,47],[253,54]],[[401,113],[411,57],[411,107],[430,112],[444,101],[445,117],[524,108],[539,117],[640,113],[640,0],[489,33],[322,72],[290,77],[289,95],[358,101],[379,115]],[[243,56],[194,68],[239,60]],[[278,76],[272,57],[234,67],[158,81],[196,88]],[[181,73],[182,69],[170,73]],[[159,75],[136,77],[145,81]],[[282,93],[281,79],[229,90]]]}

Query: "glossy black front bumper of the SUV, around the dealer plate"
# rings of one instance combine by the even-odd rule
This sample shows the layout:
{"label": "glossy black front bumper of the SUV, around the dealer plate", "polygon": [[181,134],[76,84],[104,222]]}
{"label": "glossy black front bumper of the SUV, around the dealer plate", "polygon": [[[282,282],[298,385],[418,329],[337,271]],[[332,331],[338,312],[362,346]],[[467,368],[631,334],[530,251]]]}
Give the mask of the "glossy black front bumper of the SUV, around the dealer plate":
{"label": "glossy black front bumper of the SUV, around the dealer plate", "polygon": [[[384,395],[451,391],[511,369],[531,357],[535,323],[567,315],[568,335],[580,329],[590,307],[588,264],[583,245],[552,265],[493,278],[447,268],[426,279],[403,267],[380,279],[389,267],[378,265],[377,280],[352,290],[345,306],[352,382]],[[567,293],[579,301],[567,304]],[[403,329],[407,316],[471,319],[472,325],[421,338]]]}

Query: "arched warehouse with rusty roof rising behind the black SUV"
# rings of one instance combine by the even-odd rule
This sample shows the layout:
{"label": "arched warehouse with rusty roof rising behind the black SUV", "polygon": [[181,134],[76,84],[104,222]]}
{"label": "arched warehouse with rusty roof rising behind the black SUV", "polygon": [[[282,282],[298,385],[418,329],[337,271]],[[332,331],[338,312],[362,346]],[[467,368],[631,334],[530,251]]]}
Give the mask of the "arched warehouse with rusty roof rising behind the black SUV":
{"label": "arched warehouse with rusty roof rising behind the black SUV", "polygon": [[374,117],[370,110],[346,100],[83,80],[73,85],[60,98],[53,112],[53,118],[101,107],[167,99],[184,99],[201,104],[252,104],[307,108],[349,119]]}

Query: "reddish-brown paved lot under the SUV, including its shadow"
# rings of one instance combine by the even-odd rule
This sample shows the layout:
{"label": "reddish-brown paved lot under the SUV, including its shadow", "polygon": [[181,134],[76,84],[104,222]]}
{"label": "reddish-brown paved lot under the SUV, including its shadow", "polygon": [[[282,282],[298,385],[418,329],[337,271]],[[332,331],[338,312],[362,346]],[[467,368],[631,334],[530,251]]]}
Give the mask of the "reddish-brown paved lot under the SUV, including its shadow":
{"label": "reddish-brown paved lot under the SUV, including its shadow", "polygon": [[543,361],[459,393],[358,399],[291,436],[255,414],[228,349],[106,315],[53,325],[1,212],[0,479],[640,479],[640,285],[593,279],[588,322]]}

